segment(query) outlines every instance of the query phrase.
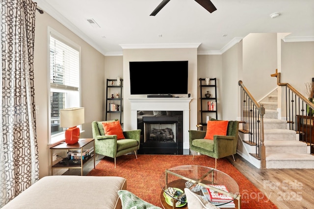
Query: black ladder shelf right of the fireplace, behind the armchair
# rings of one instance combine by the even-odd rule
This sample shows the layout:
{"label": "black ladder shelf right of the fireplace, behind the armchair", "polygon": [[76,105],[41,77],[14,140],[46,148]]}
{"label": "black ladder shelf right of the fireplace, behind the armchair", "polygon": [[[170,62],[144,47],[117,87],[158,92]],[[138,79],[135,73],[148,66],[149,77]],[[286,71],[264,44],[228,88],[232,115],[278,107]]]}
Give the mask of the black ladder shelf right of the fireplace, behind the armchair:
{"label": "black ladder shelf right of the fireplace, behind the armchair", "polygon": [[[205,78],[200,78],[200,101],[201,101],[201,122],[199,124],[207,126],[207,118],[217,119],[217,83],[216,78],[210,78],[209,84]],[[210,96],[205,94],[209,92]]]}

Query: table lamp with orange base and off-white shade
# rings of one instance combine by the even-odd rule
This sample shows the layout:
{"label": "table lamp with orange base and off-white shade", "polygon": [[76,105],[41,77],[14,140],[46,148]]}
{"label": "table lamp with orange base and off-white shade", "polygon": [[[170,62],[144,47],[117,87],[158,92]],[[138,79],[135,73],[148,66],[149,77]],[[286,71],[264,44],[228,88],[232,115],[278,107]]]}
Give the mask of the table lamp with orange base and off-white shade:
{"label": "table lamp with orange base and off-white shade", "polygon": [[60,127],[65,130],[65,143],[75,144],[79,139],[79,128],[77,125],[84,123],[84,108],[68,108],[60,110]]}

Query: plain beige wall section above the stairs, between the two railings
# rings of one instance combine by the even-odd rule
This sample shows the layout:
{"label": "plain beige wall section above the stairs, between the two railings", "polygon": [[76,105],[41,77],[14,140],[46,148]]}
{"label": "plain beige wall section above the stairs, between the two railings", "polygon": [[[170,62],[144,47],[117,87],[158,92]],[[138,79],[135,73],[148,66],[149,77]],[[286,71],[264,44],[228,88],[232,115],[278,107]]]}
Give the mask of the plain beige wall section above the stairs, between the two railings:
{"label": "plain beige wall section above the stairs, between the two railings", "polygon": [[245,87],[257,101],[277,87],[270,74],[277,69],[277,33],[251,33],[243,39]]}

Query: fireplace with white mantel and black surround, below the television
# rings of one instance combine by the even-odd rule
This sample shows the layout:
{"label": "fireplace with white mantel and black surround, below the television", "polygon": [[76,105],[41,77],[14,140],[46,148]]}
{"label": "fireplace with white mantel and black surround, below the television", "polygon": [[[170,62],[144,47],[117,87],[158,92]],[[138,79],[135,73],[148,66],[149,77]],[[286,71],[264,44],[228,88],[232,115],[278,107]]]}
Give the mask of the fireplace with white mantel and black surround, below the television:
{"label": "fireplace with white mantel and black surround, below the television", "polygon": [[[174,98],[173,97],[173,98],[128,98],[128,99],[131,102],[131,130],[133,129],[142,130],[139,153],[143,151],[146,153],[150,152],[151,154],[169,153],[169,154],[189,155],[189,139],[188,139],[189,118],[190,118],[189,103],[192,98],[186,98],[186,97]],[[154,115],[154,112],[155,112],[155,115]],[[174,140],[175,142],[171,142],[168,145],[164,145],[164,144],[170,142],[170,140],[168,142],[163,141],[162,143],[164,144],[154,142],[153,144],[147,143],[143,145],[144,123],[143,121],[139,121],[139,119],[140,118],[143,119],[146,116],[155,117],[156,121],[151,122],[153,123],[153,126],[152,124],[150,124],[150,126],[155,129],[170,128],[172,129],[172,132],[174,132],[174,129],[175,129],[176,132],[173,135],[176,137],[176,141]],[[167,116],[178,117],[178,122],[168,123],[165,121],[160,121],[161,117],[167,117]],[[152,118],[145,118],[144,121],[146,119],[152,119]],[[176,124],[176,128],[173,128],[173,123]],[[167,125],[169,127],[164,127],[164,124],[169,124]],[[155,147],[151,148],[153,145]],[[167,146],[168,148],[166,148],[165,146]],[[175,148],[178,151],[174,151]]]}

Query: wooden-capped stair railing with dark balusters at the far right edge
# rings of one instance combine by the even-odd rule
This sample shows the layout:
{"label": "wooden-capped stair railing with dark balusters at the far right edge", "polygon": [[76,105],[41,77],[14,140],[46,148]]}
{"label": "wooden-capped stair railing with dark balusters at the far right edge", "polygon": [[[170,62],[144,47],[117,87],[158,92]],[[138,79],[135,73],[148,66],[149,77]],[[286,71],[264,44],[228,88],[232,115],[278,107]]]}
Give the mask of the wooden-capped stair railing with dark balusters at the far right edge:
{"label": "wooden-capped stair railing with dark balusters at the far right edge", "polygon": [[[314,113],[314,104],[288,83],[280,83],[280,72],[271,74],[277,77],[277,85],[282,88],[284,95],[282,107],[285,108],[286,120],[290,130],[299,133],[300,141],[310,145],[310,154],[314,154],[314,117],[309,116]],[[307,113],[309,112],[309,113]]]}

